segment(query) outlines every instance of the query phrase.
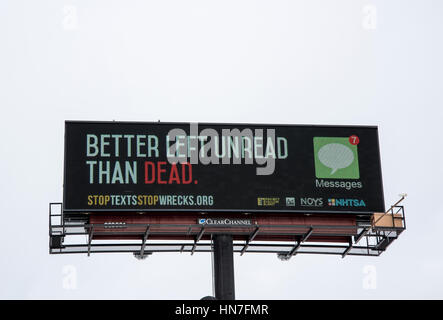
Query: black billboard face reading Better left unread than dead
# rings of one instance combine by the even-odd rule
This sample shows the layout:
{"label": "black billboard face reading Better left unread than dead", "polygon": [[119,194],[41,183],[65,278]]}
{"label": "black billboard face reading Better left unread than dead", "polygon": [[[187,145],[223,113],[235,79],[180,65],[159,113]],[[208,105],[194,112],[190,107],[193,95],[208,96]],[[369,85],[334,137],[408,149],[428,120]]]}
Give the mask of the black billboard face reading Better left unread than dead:
{"label": "black billboard face reading Better left unread than dead", "polygon": [[384,212],[377,127],[66,121],[63,209]]}

